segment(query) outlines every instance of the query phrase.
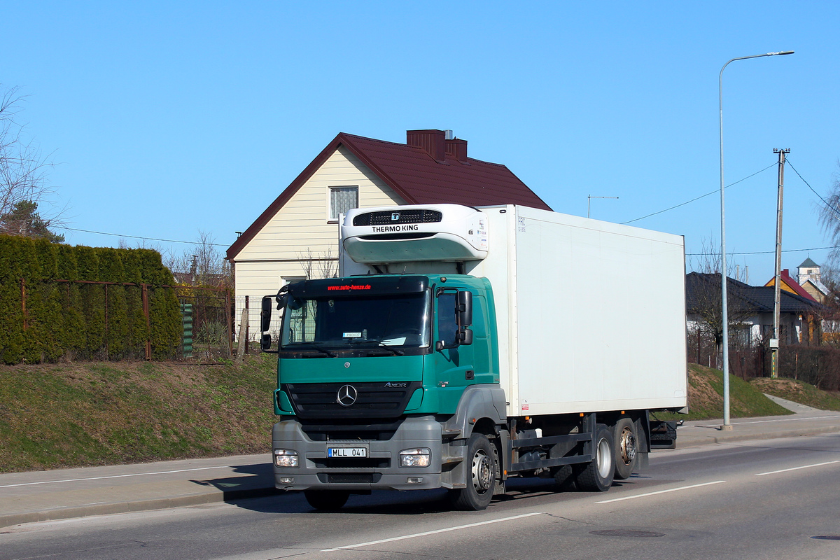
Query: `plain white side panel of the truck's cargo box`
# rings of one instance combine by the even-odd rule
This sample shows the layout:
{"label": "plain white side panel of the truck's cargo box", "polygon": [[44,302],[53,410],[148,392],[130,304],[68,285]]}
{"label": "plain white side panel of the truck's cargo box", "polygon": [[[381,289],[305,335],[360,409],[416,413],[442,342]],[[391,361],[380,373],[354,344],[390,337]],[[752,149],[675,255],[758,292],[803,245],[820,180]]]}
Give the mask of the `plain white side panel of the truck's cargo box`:
{"label": "plain white side panel of the truck's cargo box", "polygon": [[508,414],[685,406],[683,238],[527,207],[499,217],[507,227],[491,218],[478,268],[493,283],[500,345],[509,341]]}

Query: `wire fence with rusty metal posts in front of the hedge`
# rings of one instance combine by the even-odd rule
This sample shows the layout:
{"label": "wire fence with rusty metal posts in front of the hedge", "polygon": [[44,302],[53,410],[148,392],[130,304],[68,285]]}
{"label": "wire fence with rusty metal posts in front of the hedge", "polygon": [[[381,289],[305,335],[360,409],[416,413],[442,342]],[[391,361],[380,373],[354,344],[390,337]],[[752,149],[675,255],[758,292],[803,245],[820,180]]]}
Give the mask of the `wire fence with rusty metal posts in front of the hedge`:
{"label": "wire fence with rusty metal posts in front of the hedge", "polygon": [[22,278],[6,293],[0,354],[8,364],[233,356],[230,290]]}

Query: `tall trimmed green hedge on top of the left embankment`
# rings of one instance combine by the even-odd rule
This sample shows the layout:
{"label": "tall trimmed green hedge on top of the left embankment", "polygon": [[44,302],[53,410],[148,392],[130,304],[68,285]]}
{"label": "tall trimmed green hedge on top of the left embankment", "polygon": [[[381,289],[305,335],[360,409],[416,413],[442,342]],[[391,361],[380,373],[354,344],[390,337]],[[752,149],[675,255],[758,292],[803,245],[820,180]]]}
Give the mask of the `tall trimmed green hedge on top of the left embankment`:
{"label": "tall trimmed green hedge on top of the left embankment", "polygon": [[163,287],[172,284],[170,270],[151,249],[72,247],[0,235],[0,360],[142,358],[147,338],[152,358],[171,358],[181,343],[178,299],[174,289]]}

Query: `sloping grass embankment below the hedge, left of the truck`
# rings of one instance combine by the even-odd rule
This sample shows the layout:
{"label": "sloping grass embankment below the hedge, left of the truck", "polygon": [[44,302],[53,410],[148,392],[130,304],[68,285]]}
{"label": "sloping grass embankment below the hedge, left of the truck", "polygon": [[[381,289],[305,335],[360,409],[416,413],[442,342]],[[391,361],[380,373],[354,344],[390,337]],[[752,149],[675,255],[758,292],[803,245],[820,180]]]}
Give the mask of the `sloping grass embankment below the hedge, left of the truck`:
{"label": "sloping grass embankment below the hedge, left of the truck", "polygon": [[0,472],[268,453],[276,362],[0,366]]}

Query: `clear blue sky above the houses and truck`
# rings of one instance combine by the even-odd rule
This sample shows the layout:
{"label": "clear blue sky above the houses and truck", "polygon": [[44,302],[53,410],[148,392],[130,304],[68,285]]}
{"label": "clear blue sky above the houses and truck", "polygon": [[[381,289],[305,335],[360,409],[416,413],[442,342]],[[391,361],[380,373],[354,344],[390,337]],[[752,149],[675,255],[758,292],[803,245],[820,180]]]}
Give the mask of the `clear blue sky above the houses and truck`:
{"label": "clear blue sky above the houses and truck", "polygon": [[[592,200],[592,217],[627,222],[718,188],[718,73],[778,50],[795,55],[724,74],[726,182],[773,165],[774,148],[790,148],[823,196],[838,171],[833,2],[2,8],[0,83],[29,95],[22,117],[60,162],[50,181],[76,229],[185,241],[202,229],[228,245],[337,133],[405,142],[409,128],[451,128],[558,212],[618,196]],[[771,167],[727,189],[727,252],[766,252],[732,258],[752,284],[773,274],[776,183]],[[683,234],[699,253],[719,245],[719,201],[633,225]],[[831,244],[818,201],[787,168],[784,249]],[[819,264],[827,254],[810,251]]]}

